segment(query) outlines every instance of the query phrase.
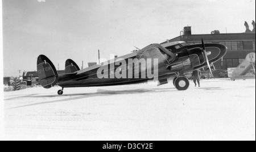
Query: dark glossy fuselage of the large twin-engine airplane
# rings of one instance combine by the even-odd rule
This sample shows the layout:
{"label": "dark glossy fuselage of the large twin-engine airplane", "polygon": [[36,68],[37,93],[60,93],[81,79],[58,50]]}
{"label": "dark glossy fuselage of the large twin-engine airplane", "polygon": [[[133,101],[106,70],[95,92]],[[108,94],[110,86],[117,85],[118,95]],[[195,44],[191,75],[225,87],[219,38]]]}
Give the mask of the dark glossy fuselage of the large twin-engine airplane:
{"label": "dark glossy fuselage of the large twin-engine airplane", "polygon": [[[220,60],[220,58],[223,57],[226,53],[226,47],[221,44],[205,44],[205,47],[207,51],[212,52],[209,57],[210,64]],[[168,47],[166,48],[168,49]],[[196,44],[187,45],[183,48],[173,50],[172,53],[175,54],[177,60],[172,63],[168,62],[168,54],[162,53],[163,56],[158,57],[158,60],[160,60],[158,63],[158,80],[168,79],[170,77],[174,77],[177,73],[183,74],[207,66],[204,55],[201,50],[199,50],[199,48],[200,44]],[[129,60],[134,60],[135,58],[139,58],[138,53],[136,52],[127,54],[126,56],[115,58],[115,61],[112,63],[108,61],[107,64],[103,65],[108,66],[108,71],[105,71],[108,74],[107,78],[98,77],[98,69],[102,67],[101,64],[98,64],[77,71],[77,74],[73,77],[68,77],[64,79],[61,79],[61,77],[59,77],[59,82],[57,82],[57,85],[61,87],[112,86],[143,83],[147,82],[148,80],[152,80],[153,78],[147,77],[147,73],[146,77],[143,78],[135,78],[135,73],[133,73],[132,78],[129,78],[129,70],[132,68],[134,71],[134,65],[133,63],[129,64]],[[119,65],[119,62],[121,62],[121,60],[124,60],[125,63],[127,63],[125,67]],[[126,77],[117,78],[115,75],[117,73],[126,73]],[[141,76],[142,73],[143,71],[139,71],[139,76]]]}

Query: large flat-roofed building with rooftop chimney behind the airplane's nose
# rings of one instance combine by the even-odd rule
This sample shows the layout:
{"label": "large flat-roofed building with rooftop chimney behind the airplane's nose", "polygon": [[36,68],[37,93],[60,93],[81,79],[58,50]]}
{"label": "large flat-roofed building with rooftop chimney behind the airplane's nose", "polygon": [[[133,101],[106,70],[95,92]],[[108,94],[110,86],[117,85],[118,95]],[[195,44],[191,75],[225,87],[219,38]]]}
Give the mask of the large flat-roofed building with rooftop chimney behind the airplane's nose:
{"label": "large flat-roofed building with rooftop chimney behind the airplane's nose", "polygon": [[[245,59],[248,53],[255,53],[255,32],[248,33],[220,33],[220,31],[213,31],[212,34],[192,35],[191,27],[185,27],[183,35],[168,40],[185,41],[189,44],[201,44],[203,38],[205,43],[220,43],[228,47],[228,52],[224,56],[223,62],[221,60],[214,63],[216,69],[227,69],[229,67],[237,67]],[[165,44],[167,41],[161,43]]]}

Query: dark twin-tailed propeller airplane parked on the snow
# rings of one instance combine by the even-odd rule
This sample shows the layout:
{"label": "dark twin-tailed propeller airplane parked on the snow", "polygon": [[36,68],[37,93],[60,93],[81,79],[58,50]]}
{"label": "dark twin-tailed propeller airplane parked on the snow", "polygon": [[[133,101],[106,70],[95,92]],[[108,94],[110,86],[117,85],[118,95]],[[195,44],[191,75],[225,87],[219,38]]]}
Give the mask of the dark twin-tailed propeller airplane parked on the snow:
{"label": "dark twin-tailed propeller airplane parked on the snow", "polygon": [[[62,87],[57,91],[59,95],[63,94],[64,87],[90,87],[90,86],[112,86],[112,85],[127,85],[133,83],[142,83],[152,80],[149,77],[134,77],[136,73],[133,73],[132,77],[117,78],[116,76],[110,77],[113,73],[122,73],[128,71],[131,68],[139,66],[139,76],[142,76],[142,64],[132,62],[119,66],[119,63],[125,60],[125,63],[129,63],[129,59],[154,59],[157,58],[158,62],[152,63],[152,68],[158,67],[158,73],[154,76],[159,81],[159,85],[168,83],[167,79],[174,77],[173,83],[177,90],[187,90],[189,81],[183,76],[184,73],[201,69],[210,64],[220,60],[225,56],[227,48],[221,44],[202,44],[189,45],[184,42],[167,43],[167,44],[151,44],[147,47],[139,50],[138,52],[127,54],[114,59],[115,65],[111,66],[110,60],[105,64],[98,64],[87,67],[80,70],[77,64],[68,59],[65,62],[65,74],[58,74],[55,66],[44,55],[40,55],[37,61],[37,70],[39,74],[40,84],[44,88],[51,88],[58,85]],[[102,66],[107,66],[108,70],[104,71],[106,77],[98,77],[98,69]],[[125,68],[123,68],[125,67]],[[138,67],[137,67],[138,68]],[[211,71],[210,71],[211,72]],[[138,74],[138,73],[137,73]]]}

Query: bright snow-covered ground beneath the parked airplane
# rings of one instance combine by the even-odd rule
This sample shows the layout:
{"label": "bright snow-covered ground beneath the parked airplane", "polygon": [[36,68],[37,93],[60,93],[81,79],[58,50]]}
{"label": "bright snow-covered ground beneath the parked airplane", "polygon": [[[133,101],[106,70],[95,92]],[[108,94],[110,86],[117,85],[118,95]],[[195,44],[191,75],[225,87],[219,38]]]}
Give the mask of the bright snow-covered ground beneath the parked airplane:
{"label": "bright snow-covered ground beneath the parked airplane", "polygon": [[255,79],[4,92],[6,140],[255,140]]}

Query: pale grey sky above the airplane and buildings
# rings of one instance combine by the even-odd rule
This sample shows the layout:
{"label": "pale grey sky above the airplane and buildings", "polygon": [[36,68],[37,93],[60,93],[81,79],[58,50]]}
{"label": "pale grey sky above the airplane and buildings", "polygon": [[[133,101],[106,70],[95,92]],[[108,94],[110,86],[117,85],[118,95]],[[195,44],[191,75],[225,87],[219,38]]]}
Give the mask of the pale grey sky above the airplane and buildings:
{"label": "pale grey sky above the airplane and buildings", "polygon": [[64,69],[71,58],[81,67],[180,35],[245,32],[255,20],[255,0],[3,0],[4,76],[36,70],[40,54]]}

